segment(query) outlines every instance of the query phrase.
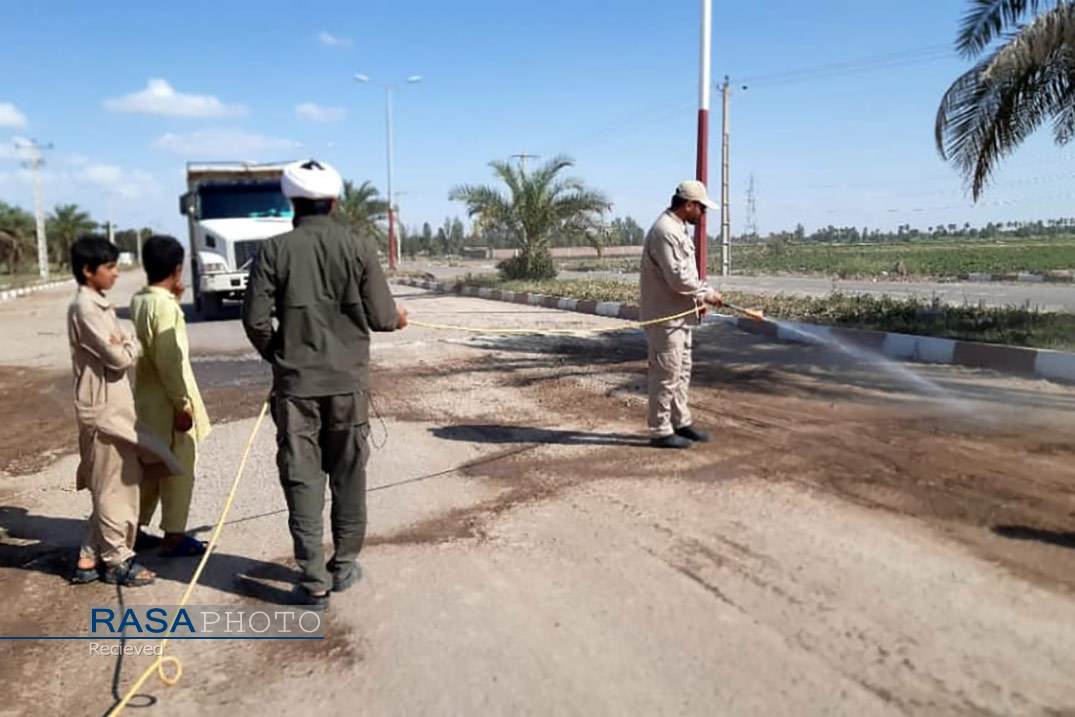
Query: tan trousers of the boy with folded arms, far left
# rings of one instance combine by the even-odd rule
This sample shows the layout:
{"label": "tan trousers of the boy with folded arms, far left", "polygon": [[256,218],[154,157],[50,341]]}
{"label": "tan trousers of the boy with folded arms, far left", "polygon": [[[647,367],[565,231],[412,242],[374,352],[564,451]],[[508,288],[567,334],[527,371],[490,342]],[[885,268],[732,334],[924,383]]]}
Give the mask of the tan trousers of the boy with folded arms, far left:
{"label": "tan trousers of the boy with folded arms, far left", "polygon": [[78,557],[118,565],[134,555],[142,464],[138,448],[121,439],[84,428],[78,449],[94,501]]}

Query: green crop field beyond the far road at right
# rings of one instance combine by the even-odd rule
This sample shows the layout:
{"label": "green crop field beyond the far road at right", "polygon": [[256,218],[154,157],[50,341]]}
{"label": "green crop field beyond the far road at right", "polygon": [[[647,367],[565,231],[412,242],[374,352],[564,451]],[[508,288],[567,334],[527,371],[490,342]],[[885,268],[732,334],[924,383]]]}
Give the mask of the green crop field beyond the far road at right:
{"label": "green crop field beyond the far road at right", "polygon": [[[732,273],[948,278],[970,273],[1045,273],[1075,269],[1075,239],[917,241],[886,244],[761,243],[732,245]],[[637,271],[639,260],[574,259],[568,271]],[[720,247],[710,246],[710,273],[720,272]]]}

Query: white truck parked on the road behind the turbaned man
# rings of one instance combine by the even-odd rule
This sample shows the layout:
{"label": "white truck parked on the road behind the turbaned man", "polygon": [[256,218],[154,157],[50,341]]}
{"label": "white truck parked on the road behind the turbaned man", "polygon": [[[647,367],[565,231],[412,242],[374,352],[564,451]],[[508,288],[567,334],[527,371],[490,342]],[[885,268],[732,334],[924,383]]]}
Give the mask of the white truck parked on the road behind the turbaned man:
{"label": "white truck parked on the road behind the turbaned man", "polygon": [[190,231],[190,286],[202,318],[241,300],[261,242],[291,230],[291,203],[280,188],[287,162],[188,162],[180,213]]}

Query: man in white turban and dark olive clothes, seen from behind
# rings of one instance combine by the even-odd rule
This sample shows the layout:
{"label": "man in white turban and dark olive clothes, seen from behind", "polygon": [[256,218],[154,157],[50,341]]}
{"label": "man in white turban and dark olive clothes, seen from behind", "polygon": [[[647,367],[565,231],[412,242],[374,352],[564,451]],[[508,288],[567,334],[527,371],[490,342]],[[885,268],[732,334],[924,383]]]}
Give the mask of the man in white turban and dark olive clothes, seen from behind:
{"label": "man in white turban and dark olive clothes, seen from behind", "polygon": [[[295,162],[281,184],[295,207],[295,229],[262,244],[243,328],[273,370],[276,465],[302,571],[296,596],[325,605],[329,590],[345,590],[361,576],[370,332],[402,329],[407,315],[396,307],[373,240],[329,216],[343,188],[340,174],[324,162]],[[328,562],[326,474],[334,547]]]}

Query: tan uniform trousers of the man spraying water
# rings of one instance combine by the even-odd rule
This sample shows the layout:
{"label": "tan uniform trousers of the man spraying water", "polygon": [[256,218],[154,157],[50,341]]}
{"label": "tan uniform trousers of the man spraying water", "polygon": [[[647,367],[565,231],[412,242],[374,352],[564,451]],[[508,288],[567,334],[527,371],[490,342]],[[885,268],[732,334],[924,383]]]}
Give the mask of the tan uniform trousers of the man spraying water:
{"label": "tan uniform trousers of the man spraying water", "polygon": [[689,326],[658,324],[646,327],[649,346],[649,434],[671,435],[690,426],[687,392],[690,389],[691,336]]}

